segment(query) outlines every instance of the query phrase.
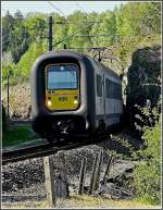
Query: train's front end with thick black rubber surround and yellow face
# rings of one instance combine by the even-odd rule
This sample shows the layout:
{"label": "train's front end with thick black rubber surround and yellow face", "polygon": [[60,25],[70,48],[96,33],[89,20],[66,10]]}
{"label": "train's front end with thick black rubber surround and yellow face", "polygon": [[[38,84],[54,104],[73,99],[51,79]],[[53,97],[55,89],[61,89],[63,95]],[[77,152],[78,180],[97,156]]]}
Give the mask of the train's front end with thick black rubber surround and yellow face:
{"label": "train's front end with thick black rubber surround and yellow face", "polygon": [[41,137],[73,138],[89,133],[87,74],[82,58],[48,52],[32,70],[33,129]]}

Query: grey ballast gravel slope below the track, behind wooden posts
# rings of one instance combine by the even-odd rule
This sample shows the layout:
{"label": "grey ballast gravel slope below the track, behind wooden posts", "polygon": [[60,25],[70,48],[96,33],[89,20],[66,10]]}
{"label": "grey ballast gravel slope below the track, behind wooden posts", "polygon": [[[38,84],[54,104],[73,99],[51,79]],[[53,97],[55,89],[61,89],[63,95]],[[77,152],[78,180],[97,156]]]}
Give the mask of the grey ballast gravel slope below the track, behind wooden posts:
{"label": "grey ballast gravel slope below the track, behind wooden posts", "polygon": [[[77,192],[78,189],[79,172],[84,157],[87,158],[86,188],[88,188],[95,156],[101,150],[103,151],[101,176],[103,176],[110,155],[110,140],[104,144],[84,146],[64,151],[71,192]],[[57,156],[58,155],[51,156],[53,158],[54,170],[58,168]],[[134,166],[135,163],[130,161],[117,159],[111,170],[110,178],[113,180],[121,173],[123,174],[127,170],[133,170]],[[35,158],[2,165],[2,195],[24,195],[24,197],[25,195],[32,197],[33,195],[38,198],[45,197],[43,159]]]}

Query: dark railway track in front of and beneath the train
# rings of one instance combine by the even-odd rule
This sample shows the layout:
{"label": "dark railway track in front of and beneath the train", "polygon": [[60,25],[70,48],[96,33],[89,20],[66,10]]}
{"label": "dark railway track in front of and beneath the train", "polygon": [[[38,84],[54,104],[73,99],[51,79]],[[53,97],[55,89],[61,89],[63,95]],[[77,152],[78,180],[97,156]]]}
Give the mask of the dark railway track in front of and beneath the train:
{"label": "dark railway track in front of and beneath the train", "polygon": [[[10,151],[2,151],[2,164],[9,162],[17,162],[25,159],[33,159],[54,155],[60,150],[75,149],[80,146],[92,145],[103,140],[104,136],[93,139],[83,139],[80,141],[63,141],[53,144],[41,144],[39,146],[30,146],[22,149],[14,149]],[[60,145],[59,145],[60,144]]]}

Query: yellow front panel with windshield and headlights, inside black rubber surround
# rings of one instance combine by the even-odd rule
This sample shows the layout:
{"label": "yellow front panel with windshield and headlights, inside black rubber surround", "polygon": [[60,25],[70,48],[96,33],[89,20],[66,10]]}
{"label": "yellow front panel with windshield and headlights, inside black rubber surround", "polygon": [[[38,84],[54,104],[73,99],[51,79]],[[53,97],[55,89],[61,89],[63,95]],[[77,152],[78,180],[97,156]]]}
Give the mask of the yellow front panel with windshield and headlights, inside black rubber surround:
{"label": "yellow front panel with windshield and headlights, inside black rubber surround", "polygon": [[50,111],[77,110],[79,67],[74,63],[50,64],[46,67],[46,107]]}

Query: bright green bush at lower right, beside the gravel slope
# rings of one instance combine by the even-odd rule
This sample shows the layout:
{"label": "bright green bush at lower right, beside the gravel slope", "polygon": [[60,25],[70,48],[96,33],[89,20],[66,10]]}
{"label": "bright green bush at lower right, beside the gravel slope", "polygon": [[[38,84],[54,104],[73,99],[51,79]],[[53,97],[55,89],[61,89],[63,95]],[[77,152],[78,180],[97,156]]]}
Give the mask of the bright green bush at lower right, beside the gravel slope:
{"label": "bright green bush at lower right, beside the gravel slope", "polygon": [[140,151],[143,162],[135,169],[135,186],[140,199],[151,205],[161,202],[161,122],[146,128],[147,148]]}

